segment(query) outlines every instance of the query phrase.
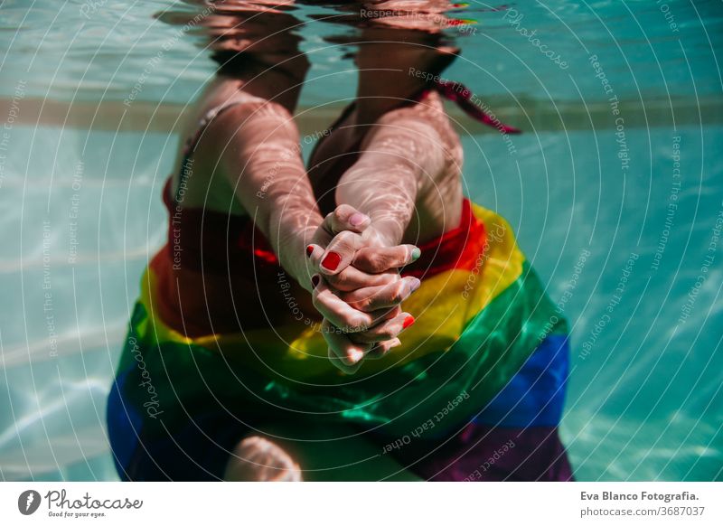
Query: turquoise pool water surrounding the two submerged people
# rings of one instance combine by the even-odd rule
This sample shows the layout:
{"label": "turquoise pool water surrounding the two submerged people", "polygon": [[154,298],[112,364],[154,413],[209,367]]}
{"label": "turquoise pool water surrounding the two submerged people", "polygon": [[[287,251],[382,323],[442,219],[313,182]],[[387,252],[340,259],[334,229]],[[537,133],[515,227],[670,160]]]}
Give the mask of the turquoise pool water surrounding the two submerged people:
{"label": "turquoise pool water surrounding the two submerged people", "polygon": [[[173,116],[211,71],[183,35],[144,81],[145,106],[124,114],[123,99],[177,29],[152,15],[191,9],[173,4],[0,10],[3,480],[116,478],[108,383],[141,271],[164,238]],[[526,132],[511,144],[460,117],[466,193],[511,221],[570,320],[562,437],[576,476],[719,480],[723,8],[512,8],[460,12],[480,23],[460,38],[463,59],[448,76]],[[568,68],[531,42],[535,30]],[[343,50],[322,39],[332,31],[301,30],[314,63],[301,104],[312,117],[353,95]]]}

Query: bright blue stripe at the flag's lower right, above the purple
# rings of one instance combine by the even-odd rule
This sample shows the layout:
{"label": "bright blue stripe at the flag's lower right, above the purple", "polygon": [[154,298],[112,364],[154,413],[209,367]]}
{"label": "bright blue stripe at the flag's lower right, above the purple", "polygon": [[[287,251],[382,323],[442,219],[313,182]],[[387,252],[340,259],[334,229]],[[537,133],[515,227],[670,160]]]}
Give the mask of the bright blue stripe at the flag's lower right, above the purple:
{"label": "bright blue stripe at the flag's lower right, above the purple", "polygon": [[565,404],[568,334],[549,334],[512,380],[474,418],[500,427],[554,427]]}

